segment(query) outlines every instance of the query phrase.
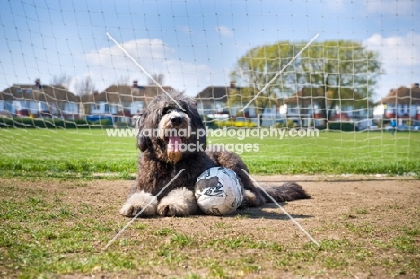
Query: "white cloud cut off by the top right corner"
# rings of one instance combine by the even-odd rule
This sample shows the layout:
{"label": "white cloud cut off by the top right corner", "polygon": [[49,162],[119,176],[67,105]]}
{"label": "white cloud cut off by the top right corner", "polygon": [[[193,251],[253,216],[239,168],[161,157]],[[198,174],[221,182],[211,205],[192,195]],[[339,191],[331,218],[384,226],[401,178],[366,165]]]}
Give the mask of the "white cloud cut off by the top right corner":
{"label": "white cloud cut off by the top right corner", "polygon": [[384,14],[413,14],[419,7],[414,0],[372,0],[363,2],[366,6],[367,13]]}

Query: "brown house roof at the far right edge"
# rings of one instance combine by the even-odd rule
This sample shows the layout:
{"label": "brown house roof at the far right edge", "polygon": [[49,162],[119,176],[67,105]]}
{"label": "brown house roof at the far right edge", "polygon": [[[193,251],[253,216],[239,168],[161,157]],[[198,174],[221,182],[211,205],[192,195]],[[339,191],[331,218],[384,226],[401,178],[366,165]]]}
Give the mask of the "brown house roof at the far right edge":
{"label": "brown house roof at the far right edge", "polygon": [[383,97],[379,103],[420,105],[420,88],[418,84],[413,84],[411,87],[401,86],[397,89],[391,89],[388,95]]}

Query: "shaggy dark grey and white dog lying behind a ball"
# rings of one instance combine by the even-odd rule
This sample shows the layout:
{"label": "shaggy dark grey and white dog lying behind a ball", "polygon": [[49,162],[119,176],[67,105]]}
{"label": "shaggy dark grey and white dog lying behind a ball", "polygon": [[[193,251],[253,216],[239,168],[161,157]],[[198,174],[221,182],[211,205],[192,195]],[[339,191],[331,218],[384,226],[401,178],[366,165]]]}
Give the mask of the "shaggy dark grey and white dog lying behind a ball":
{"label": "shaggy dark grey and white dog lying behind a ball", "polygon": [[[216,166],[235,171],[241,179],[245,188],[241,208],[271,202],[241,170],[248,172],[238,155],[228,151],[206,151],[206,135],[202,133],[206,130],[196,102],[182,93],[171,94],[171,97],[166,94],[155,97],[139,120],[137,145],[141,154],[138,175],[120,214],[133,217],[142,209],[141,217],[202,214],[194,195],[196,179],[205,170]],[[185,170],[179,177],[154,198],[182,169]],[[266,190],[278,202],[310,198],[296,183]]]}

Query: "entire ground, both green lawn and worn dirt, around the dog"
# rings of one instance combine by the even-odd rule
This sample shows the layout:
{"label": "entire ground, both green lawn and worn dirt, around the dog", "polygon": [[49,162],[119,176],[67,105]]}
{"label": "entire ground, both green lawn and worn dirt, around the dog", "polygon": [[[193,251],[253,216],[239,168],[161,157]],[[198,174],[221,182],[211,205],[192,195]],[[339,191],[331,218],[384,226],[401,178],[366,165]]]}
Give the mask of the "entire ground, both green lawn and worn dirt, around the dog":
{"label": "entire ground, both green lawn and worn dirt, around the dog", "polygon": [[[293,179],[312,199],[232,216],[136,220],[118,214],[135,178],[133,137],[103,130],[0,129],[0,276],[4,278],[416,278],[420,133],[320,132],[243,153],[265,187]],[[286,174],[388,174],[404,178]],[[409,177],[415,176],[413,177]]]}

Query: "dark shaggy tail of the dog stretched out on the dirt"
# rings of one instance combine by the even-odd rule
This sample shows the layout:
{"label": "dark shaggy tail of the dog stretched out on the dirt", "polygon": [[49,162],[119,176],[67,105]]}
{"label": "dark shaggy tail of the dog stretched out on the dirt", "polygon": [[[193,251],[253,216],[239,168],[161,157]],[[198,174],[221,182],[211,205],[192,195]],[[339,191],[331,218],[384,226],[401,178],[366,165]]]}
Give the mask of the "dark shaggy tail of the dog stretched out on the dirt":
{"label": "dark shaggy tail of the dog stretched out on the dirt", "polygon": [[[289,202],[297,199],[308,199],[311,196],[306,193],[303,188],[295,182],[286,182],[282,186],[265,188],[267,194],[272,196],[276,202]],[[273,200],[267,196],[264,191],[261,191],[267,203],[272,203]]]}

